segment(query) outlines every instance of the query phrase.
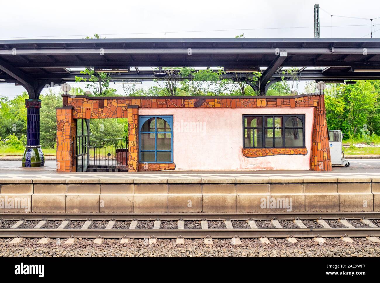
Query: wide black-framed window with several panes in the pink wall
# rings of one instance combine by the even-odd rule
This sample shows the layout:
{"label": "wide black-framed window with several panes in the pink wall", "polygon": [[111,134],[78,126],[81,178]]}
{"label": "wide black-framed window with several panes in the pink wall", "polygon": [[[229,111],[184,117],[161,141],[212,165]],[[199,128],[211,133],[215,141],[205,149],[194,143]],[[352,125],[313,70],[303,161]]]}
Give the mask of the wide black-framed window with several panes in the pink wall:
{"label": "wide black-framed window with several panes in the pink wall", "polygon": [[243,148],[305,147],[305,115],[243,115]]}

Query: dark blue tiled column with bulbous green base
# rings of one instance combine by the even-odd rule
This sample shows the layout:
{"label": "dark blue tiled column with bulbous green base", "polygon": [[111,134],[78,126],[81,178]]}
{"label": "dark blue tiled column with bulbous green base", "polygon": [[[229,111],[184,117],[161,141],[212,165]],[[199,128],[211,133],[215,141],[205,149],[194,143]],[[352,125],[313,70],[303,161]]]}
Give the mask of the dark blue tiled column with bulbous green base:
{"label": "dark blue tiled column with bulbous green base", "polygon": [[25,99],[27,108],[27,146],[22,156],[22,167],[41,167],[45,157],[40,145],[41,99]]}

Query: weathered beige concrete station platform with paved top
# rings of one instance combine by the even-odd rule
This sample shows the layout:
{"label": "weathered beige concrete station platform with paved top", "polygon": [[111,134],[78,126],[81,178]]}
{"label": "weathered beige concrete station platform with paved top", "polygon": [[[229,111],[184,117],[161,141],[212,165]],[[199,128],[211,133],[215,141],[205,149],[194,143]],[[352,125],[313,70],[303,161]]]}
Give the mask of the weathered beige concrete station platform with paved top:
{"label": "weathered beige concrete station platform with paved top", "polygon": [[17,173],[0,173],[0,213],[380,211],[379,170]]}

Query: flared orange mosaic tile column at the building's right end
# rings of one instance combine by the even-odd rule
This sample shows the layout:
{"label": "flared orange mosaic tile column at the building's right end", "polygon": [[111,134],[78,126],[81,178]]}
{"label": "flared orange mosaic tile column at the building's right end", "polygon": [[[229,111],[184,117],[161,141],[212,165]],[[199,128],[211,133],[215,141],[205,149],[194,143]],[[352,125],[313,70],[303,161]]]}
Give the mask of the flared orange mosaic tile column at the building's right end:
{"label": "flared orange mosaic tile column at the building's right end", "polygon": [[329,135],[326,122],[325,96],[321,94],[314,108],[310,170],[332,171]]}

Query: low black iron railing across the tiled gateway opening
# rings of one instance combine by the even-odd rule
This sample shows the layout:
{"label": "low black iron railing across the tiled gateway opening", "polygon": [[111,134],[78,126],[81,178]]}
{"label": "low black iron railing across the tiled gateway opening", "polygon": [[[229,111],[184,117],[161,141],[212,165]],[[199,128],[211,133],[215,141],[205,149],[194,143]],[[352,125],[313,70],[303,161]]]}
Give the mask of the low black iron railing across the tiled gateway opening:
{"label": "low black iron railing across the tiled gateway opening", "polygon": [[[127,164],[127,137],[109,138],[105,140],[91,140],[89,146],[89,165],[90,166],[117,166]],[[125,164],[120,160],[123,154],[117,154],[125,151]],[[120,164],[120,162],[122,164]]]}

